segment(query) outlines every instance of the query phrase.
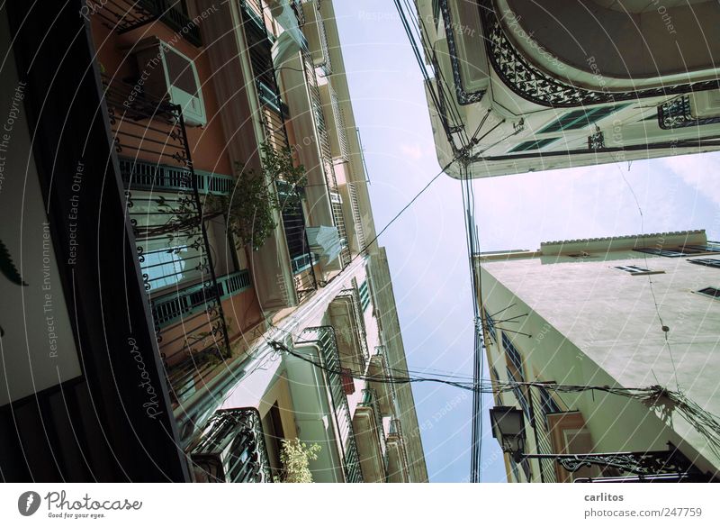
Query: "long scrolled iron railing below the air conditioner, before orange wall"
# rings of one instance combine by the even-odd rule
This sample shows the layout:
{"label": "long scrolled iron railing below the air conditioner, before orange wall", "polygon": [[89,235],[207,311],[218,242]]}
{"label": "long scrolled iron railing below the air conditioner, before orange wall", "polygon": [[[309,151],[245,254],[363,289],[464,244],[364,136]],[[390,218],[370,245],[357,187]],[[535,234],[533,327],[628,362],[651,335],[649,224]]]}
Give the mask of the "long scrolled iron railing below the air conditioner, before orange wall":
{"label": "long scrolled iron railing below the air conditioner, before orange wall", "polygon": [[[175,311],[165,307],[153,311],[157,342],[166,359],[166,375],[171,388],[180,392],[175,394],[175,400],[180,400],[181,395],[194,390],[191,380],[202,379],[207,373],[208,358],[229,353],[220,291],[238,286],[238,277],[219,283],[215,276],[180,107],[153,100],[133,86],[111,83],[106,78],[103,82],[117,153],[171,172],[177,188],[175,192],[148,192],[142,186],[136,189],[132,184],[137,178],[129,177],[125,195],[140,272],[150,299],[158,289],[174,287],[179,297],[178,291],[194,287],[192,295],[182,301],[184,304],[178,300]],[[128,163],[123,163],[127,168]],[[193,376],[188,369],[191,363],[197,365]],[[177,377],[175,367],[184,374]]]}

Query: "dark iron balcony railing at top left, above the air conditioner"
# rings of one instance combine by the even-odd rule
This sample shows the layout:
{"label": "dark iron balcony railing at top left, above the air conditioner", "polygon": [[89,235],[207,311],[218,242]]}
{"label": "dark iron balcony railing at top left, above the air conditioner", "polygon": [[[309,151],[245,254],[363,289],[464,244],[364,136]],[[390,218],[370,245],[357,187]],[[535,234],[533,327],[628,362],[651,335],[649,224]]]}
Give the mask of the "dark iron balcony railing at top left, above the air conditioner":
{"label": "dark iron balcony railing at top left, above the air conditioner", "polygon": [[161,20],[185,40],[202,46],[197,18],[188,16],[184,4],[183,0],[106,0],[94,15],[118,34]]}

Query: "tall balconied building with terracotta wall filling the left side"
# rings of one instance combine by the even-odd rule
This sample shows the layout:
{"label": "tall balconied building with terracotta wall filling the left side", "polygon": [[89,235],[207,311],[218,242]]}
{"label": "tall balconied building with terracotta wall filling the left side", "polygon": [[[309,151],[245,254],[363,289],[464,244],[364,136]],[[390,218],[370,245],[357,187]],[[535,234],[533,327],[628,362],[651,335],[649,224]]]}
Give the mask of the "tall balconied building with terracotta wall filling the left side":
{"label": "tall balconied building with terracotta wall filling the left side", "polygon": [[[50,344],[40,334],[25,361],[22,332],[4,335],[19,376],[2,390],[18,430],[4,477],[273,481],[283,440],[298,438],[320,445],[316,481],[427,481],[410,386],[388,382],[404,350],[332,3],[71,4],[58,23],[3,12],[15,41],[4,102],[24,104],[35,137],[13,167],[40,181],[47,218],[31,224],[48,247],[28,254],[12,226],[3,240],[11,261],[47,257],[57,275],[65,360],[60,382],[55,365],[42,372],[39,410],[31,370]],[[21,190],[3,197],[20,205]],[[43,276],[30,289],[14,278],[12,294],[33,291],[41,308]],[[63,397],[72,411],[49,419]],[[80,438],[40,436],[37,464],[14,456],[43,426]]]}

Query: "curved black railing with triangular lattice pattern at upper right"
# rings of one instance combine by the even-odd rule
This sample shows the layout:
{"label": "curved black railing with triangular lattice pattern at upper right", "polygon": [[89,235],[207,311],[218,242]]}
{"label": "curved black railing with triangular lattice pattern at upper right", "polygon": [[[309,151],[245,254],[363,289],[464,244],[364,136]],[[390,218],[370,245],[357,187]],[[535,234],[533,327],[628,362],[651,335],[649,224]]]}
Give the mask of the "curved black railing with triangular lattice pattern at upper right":
{"label": "curved black railing with triangular lattice pattern at upper right", "polygon": [[[447,12],[446,4],[446,0],[440,0],[444,15]],[[513,92],[533,103],[554,108],[569,108],[588,104],[630,101],[644,97],[682,94],[720,87],[720,80],[718,79],[618,92],[609,90],[594,91],[580,86],[573,86],[545,74],[523,56],[509,39],[502,21],[495,11],[495,4],[492,0],[479,0],[478,6],[485,46],[492,67]],[[446,18],[446,24],[448,20]],[[450,52],[451,55],[454,54],[452,50]]]}

